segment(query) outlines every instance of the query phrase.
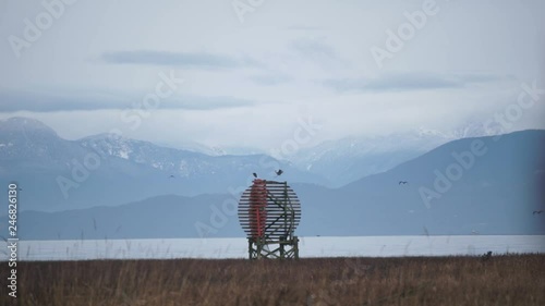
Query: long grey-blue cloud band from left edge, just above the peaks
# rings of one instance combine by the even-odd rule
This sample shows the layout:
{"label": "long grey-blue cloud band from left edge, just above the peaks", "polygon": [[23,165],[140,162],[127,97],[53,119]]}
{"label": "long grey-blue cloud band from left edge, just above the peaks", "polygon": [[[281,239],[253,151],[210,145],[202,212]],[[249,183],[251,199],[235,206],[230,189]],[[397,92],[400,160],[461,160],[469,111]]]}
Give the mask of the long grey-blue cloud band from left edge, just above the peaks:
{"label": "long grey-blue cloud band from left edge, just above the peaks", "polygon": [[[144,97],[144,95],[142,95]],[[53,96],[49,94],[32,93],[0,93],[0,112],[32,111],[94,111],[94,110],[125,110],[137,109],[142,106],[142,98],[113,98],[107,96]],[[215,110],[251,107],[255,102],[228,96],[177,96],[160,101],[157,109],[172,110]]]}

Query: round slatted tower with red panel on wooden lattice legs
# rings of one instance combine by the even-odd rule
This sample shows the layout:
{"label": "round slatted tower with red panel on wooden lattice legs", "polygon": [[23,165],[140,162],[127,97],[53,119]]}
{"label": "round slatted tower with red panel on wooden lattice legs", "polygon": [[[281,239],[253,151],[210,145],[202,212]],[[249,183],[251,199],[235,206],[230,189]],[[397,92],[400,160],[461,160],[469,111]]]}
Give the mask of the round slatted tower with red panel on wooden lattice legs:
{"label": "round slatted tower with red panel on wooden lattice legs", "polygon": [[299,258],[294,231],[300,220],[301,203],[286,182],[254,180],[239,203],[249,258]]}

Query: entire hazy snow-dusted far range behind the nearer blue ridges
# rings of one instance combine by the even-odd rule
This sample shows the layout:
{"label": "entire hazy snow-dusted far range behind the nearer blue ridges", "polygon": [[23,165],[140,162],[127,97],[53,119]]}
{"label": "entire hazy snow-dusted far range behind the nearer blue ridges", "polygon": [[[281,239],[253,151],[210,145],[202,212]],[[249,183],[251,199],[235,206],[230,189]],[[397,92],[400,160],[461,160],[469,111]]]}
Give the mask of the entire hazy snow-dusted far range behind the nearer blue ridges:
{"label": "entire hazy snow-dusted far range behind the nearer blue ridges", "polygon": [[274,179],[278,169],[283,170],[282,179],[293,183],[339,187],[389,170],[448,139],[428,131],[351,137],[278,160],[264,154],[227,155],[217,148],[204,154],[204,146],[175,149],[116,134],[68,140],[37,120],[11,118],[0,121],[0,182],[21,182],[32,191],[22,210],[44,211],[119,205],[165,194],[233,193],[251,183],[253,172]]}

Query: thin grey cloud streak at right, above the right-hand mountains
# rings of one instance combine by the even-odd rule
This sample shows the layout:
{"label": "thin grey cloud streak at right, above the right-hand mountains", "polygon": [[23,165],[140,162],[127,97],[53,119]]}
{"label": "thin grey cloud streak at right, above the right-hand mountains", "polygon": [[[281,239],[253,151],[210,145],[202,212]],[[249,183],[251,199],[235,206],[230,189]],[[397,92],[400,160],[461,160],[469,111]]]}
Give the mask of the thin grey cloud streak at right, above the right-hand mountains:
{"label": "thin grey cloud streak at right, above the right-hand mountains", "polygon": [[329,78],[322,84],[337,91],[409,91],[441,88],[461,88],[491,83],[505,77],[488,74],[439,75],[429,73],[389,74],[374,78]]}

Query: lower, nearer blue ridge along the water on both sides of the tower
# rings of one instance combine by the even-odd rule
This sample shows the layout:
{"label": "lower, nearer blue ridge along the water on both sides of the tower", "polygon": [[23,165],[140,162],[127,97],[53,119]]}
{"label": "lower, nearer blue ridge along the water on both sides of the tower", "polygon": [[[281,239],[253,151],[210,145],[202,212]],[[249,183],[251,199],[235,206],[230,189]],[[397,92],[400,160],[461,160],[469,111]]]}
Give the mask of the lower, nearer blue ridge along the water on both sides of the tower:
{"label": "lower, nearer blue ridge along the water on both sides of the tower", "polygon": [[[545,210],[545,131],[449,142],[340,188],[290,185],[302,204],[296,230],[301,236],[543,235],[545,216],[533,211]],[[439,196],[425,197],[426,188]],[[28,240],[242,237],[237,200],[237,194],[169,195],[117,207],[25,211],[21,235]],[[149,216],[153,227],[147,225]]]}

